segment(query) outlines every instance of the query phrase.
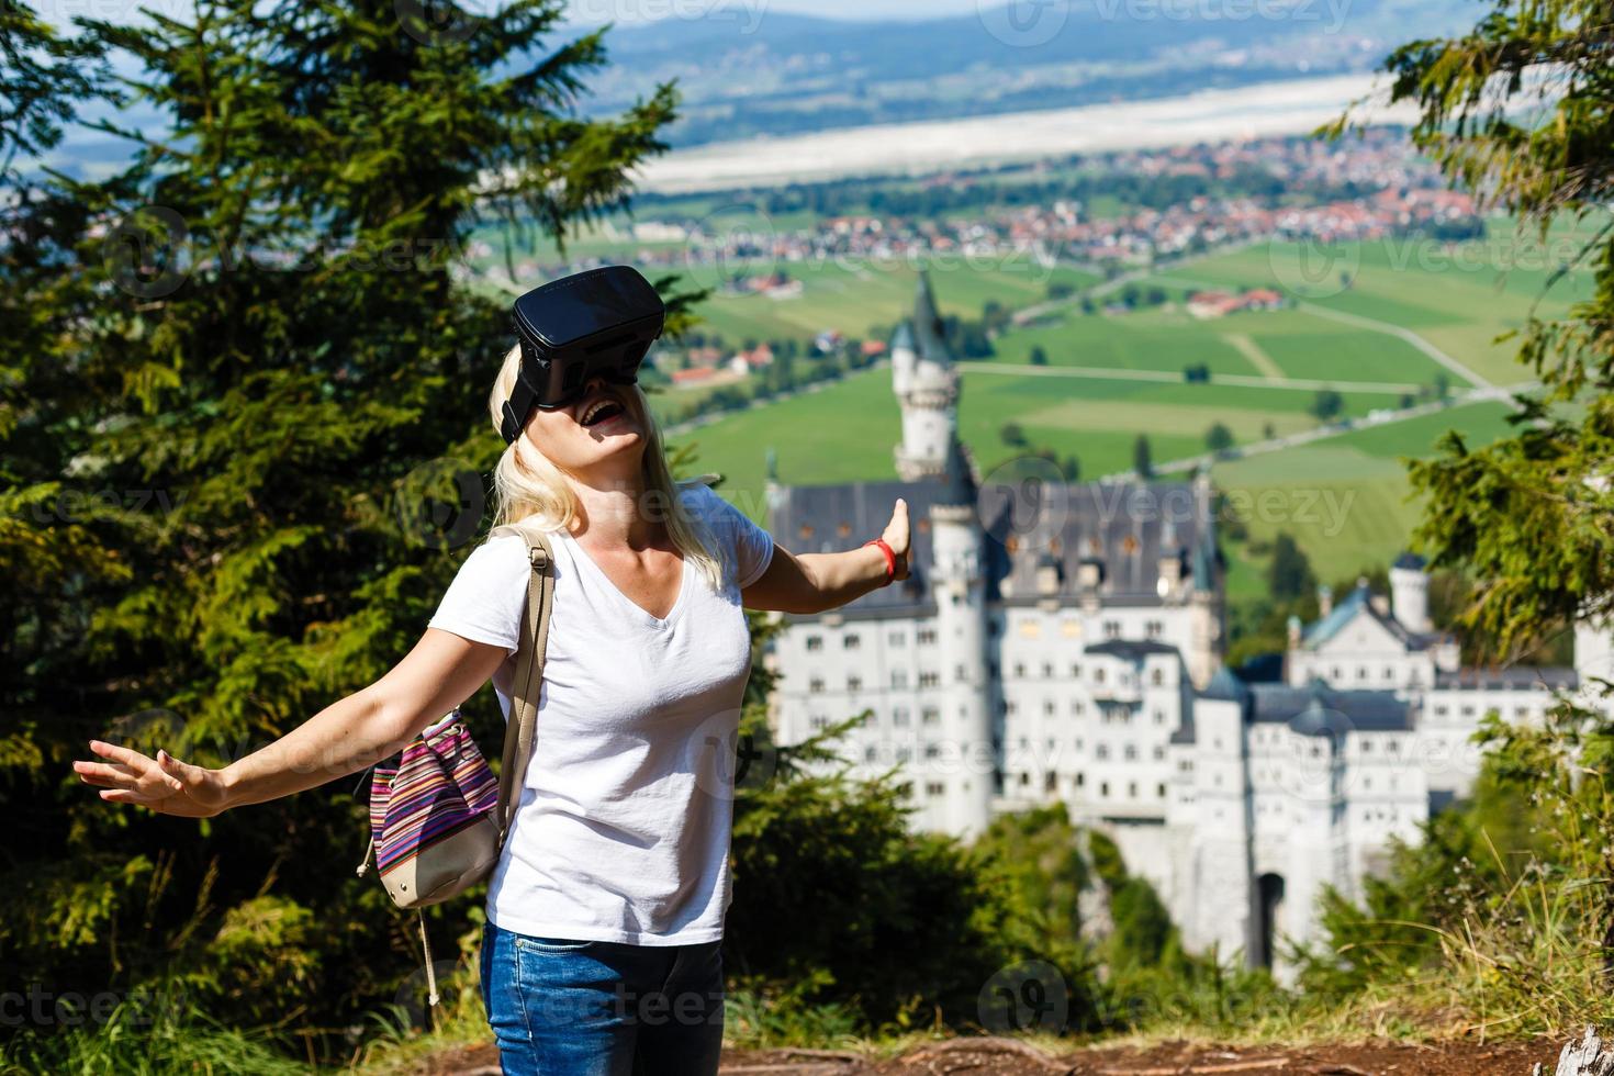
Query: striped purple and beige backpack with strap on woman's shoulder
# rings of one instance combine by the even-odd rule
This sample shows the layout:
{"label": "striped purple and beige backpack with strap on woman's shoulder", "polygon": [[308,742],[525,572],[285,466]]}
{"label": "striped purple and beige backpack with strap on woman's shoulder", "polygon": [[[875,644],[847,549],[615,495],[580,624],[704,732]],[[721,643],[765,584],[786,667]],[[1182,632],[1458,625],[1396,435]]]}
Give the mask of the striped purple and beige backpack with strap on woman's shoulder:
{"label": "striped purple and beige backpack with strap on woman's shoulder", "polygon": [[544,649],[555,595],[554,550],[549,539],[537,532],[502,526],[494,528],[489,537],[497,534],[520,534],[533,565],[515,660],[523,674],[512,682],[497,781],[458,708],[410,740],[395,766],[378,765],[370,781],[370,842],[358,874],[365,874],[374,855],[376,873],[392,903],[413,908],[420,916],[433,1005],[437,1003],[437,976],[431,966],[423,908],[460,895],[499,863],[515,803],[521,799],[516,792],[520,778],[533,757],[544,679]]}

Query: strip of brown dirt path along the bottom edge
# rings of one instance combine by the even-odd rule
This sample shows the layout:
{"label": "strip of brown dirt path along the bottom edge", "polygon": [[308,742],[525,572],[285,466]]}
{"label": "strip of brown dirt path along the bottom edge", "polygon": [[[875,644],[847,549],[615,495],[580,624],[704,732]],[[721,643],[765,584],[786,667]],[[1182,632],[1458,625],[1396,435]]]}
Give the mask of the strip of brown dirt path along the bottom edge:
{"label": "strip of brown dirt path along the bottom edge", "polygon": [[[1309,1047],[1088,1047],[1043,1053],[1014,1039],[944,1039],[880,1060],[844,1050],[725,1050],[721,1076],[1530,1076],[1551,1073],[1559,1042]],[[444,1053],[420,1076],[499,1076],[489,1047]]]}

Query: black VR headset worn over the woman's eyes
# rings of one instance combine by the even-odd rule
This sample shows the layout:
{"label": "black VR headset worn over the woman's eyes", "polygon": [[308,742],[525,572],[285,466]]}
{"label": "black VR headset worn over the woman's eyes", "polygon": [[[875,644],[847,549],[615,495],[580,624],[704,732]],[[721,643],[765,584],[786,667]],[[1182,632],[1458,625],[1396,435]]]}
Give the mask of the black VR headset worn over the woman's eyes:
{"label": "black VR headset worn over the woman's eyes", "polygon": [[638,381],[665,319],[662,297],[625,265],[563,276],[515,300],[521,373],[499,427],[505,444],[521,436],[534,407],[554,411],[575,403],[594,377]]}

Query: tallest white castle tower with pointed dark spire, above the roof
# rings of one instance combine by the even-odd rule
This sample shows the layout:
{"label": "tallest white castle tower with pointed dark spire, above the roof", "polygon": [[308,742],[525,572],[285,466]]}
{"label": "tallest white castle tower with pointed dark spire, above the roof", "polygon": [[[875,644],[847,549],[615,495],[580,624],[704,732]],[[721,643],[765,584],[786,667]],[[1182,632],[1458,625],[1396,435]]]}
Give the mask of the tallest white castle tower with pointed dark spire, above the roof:
{"label": "tallest white castle tower with pointed dark spire, above the roof", "polygon": [[944,476],[959,429],[959,371],[925,273],[918,274],[912,321],[891,336],[891,389],[902,407],[897,474],[905,482]]}

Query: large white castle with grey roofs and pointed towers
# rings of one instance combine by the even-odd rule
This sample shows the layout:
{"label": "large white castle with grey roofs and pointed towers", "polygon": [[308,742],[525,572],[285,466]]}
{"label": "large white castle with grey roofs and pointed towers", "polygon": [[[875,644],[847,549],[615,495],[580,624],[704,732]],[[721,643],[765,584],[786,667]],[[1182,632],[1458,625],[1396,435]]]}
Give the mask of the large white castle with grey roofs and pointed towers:
{"label": "large white castle with grey roofs and pointed towers", "polygon": [[960,837],[1064,800],[1117,840],[1191,949],[1285,973],[1285,942],[1317,939],[1322,887],[1357,897],[1391,837],[1415,839],[1472,786],[1488,711],[1538,719],[1554,690],[1611,676],[1588,673],[1614,668],[1609,632],[1590,629],[1582,674],[1461,668],[1406,555],[1388,598],[1365,582],[1320,595],[1317,623],[1290,624],[1282,682],[1244,684],[1222,666],[1207,479],[1067,486],[1030,466],[981,482],[923,276],[891,366],[899,481],[770,481],[770,529],[794,550],[878,534],[896,497],[915,528],[909,581],[783,618],[778,742],[868,710],[841,753],[899,768],[914,823]]}

